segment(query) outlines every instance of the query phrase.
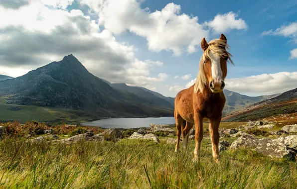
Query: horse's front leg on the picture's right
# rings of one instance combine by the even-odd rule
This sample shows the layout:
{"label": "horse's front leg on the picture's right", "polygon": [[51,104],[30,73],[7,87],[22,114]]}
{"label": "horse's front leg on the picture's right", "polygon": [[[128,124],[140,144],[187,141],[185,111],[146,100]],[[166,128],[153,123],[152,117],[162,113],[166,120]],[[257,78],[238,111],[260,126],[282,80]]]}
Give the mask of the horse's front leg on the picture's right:
{"label": "horse's front leg on the picture's right", "polygon": [[222,119],[222,114],[216,118],[209,119],[209,131],[212,142],[212,157],[216,162],[219,161],[219,126]]}

